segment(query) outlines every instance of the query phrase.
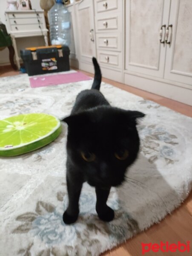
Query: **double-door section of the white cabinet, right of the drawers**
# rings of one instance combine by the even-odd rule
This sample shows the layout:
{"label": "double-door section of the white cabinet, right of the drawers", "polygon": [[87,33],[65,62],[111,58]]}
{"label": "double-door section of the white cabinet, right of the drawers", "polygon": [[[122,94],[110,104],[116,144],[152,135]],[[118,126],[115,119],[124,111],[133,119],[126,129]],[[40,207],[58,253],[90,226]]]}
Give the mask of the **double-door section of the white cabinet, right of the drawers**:
{"label": "double-door section of the white cabinet, right of the drawers", "polygon": [[192,105],[192,0],[126,0],[124,83]]}

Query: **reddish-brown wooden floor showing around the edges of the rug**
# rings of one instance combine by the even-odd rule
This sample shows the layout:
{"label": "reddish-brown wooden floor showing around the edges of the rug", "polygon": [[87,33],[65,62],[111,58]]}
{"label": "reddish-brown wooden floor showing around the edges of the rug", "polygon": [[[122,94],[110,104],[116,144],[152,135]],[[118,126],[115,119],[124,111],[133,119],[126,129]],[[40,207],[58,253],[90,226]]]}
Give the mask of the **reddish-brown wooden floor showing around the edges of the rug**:
{"label": "reddish-brown wooden floor showing around the edges of the rug", "polygon": [[[82,71],[83,72],[83,71]],[[12,76],[17,75],[18,71],[12,71],[10,68],[1,69],[0,68],[0,77],[3,76]],[[90,73],[83,72],[86,75],[93,76]],[[186,116],[192,117],[192,107],[189,105],[176,102],[162,96],[158,96],[152,93],[148,93],[143,90],[136,89],[134,87],[127,86],[109,79],[103,79],[104,82],[112,84],[116,87],[119,87],[123,90],[126,90],[130,93],[134,93],[138,96],[141,96],[145,99],[152,100],[157,102],[160,105],[166,106],[175,110],[179,113],[182,113]],[[161,221],[159,224],[155,224],[150,227],[145,232],[142,232],[135,236],[132,239],[126,241],[126,243],[119,245],[117,248],[103,253],[102,256],[141,256],[142,247],[141,243],[157,243],[160,244],[160,241],[168,241],[169,244],[175,243],[178,241],[186,243],[190,241],[190,253],[163,253],[157,252],[153,253],[148,252],[144,255],[146,256],[189,256],[192,255],[192,192],[186,201],[181,205],[179,209],[176,209],[171,215],[166,216],[166,218]]]}

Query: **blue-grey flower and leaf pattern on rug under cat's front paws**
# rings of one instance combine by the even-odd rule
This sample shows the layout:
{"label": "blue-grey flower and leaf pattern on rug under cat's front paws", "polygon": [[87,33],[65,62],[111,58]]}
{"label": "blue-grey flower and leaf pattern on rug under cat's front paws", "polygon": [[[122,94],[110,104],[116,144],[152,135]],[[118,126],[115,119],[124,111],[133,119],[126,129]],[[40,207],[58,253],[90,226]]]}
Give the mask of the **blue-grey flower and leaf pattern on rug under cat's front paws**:
{"label": "blue-grey flower and leaf pattern on rug under cat's front paws", "polygon": [[[61,185],[65,192],[63,190],[58,191],[56,197],[58,201],[62,201],[62,206],[55,207],[53,204],[37,201],[34,212],[23,213],[15,219],[22,224],[19,224],[12,231],[13,234],[30,233],[32,237],[38,237],[40,241],[49,247],[49,249],[40,250],[38,255],[44,255],[41,253],[45,253],[47,256],[51,256],[51,253],[54,255],[54,251],[57,250],[57,246],[55,245],[62,243],[65,244],[66,255],[71,255],[70,253],[72,253],[72,248],[74,250],[74,244],[77,239],[80,240],[83,246],[88,248],[93,243],[101,247],[102,244],[99,239],[89,241],[90,232],[92,236],[108,236],[111,242],[118,243],[127,236],[127,233],[132,232],[135,234],[139,232],[137,221],[131,218],[127,212],[123,211],[123,208],[120,206],[121,203],[114,191],[110,193],[108,200],[108,205],[115,210],[114,221],[109,223],[100,221],[95,211],[95,195],[92,192],[83,192],[80,195],[80,216],[78,221],[73,225],[64,224],[62,220],[63,209],[67,207],[68,198],[66,194],[66,183],[62,183]],[[91,216],[91,221],[89,221]],[[29,243],[27,248],[20,248],[18,254],[25,252],[28,255],[32,255],[33,246],[34,243]],[[91,255],[90,253],[87,250],[85,255]]]}

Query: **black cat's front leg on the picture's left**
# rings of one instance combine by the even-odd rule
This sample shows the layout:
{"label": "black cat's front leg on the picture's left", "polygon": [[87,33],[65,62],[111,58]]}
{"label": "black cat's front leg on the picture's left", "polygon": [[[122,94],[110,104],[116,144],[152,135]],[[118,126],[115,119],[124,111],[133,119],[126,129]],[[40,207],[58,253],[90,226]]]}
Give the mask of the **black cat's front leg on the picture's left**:
{"label": "black cat's front leg on the picture's left", "polygon": [[83,185],[82,177],[78,177],[67,172],[67,192],[69,204],[66,211],[63,213],[63,221],[65,224],[74,223],[79,215],[79,197]]}

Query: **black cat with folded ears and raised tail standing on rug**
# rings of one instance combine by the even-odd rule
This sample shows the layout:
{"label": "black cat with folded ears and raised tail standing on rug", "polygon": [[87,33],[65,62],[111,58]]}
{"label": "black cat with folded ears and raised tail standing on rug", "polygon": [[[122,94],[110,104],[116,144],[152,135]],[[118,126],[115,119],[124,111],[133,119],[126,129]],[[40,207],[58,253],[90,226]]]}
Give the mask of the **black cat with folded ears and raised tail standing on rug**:
{"label": "black cat with folded ears and raised tail standing on rug", "polygon": [[90,90],[76,98],[68,124],[67,190],[69,205],[63,214],[66,224],[74,223],[79,214],[79,197],[83,182],[95,186],[96,211],[103,221],[112,221],[114,211],[106,201],[112,186],[119,186],[126,169],[137,158],[139,136],[137,118],[144,114],[109,105],[100,93],[101,72],[93,58],[95,77]]}

